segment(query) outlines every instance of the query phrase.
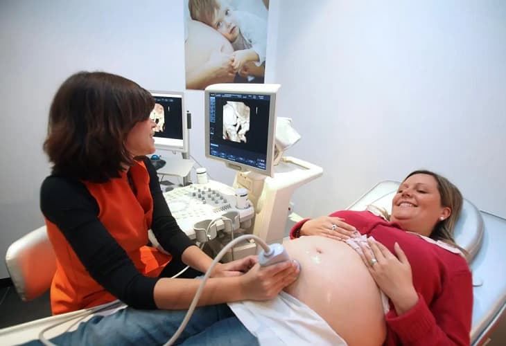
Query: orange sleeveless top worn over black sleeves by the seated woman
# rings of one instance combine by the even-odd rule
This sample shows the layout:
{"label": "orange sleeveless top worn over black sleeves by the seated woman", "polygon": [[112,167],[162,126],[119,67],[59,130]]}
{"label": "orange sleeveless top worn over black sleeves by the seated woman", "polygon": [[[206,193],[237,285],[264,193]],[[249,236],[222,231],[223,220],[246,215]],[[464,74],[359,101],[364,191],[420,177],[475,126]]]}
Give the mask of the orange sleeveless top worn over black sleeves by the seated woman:
{"label": "orange sleeveless top worn over black sleeves by the seated woman", "polygon": [[[130,177],[137,188],[137,195],[132,193],[126,172],[107,183],[83,183],[98,203],[98,219],[125,250],[137,270],[143,275],[157,277],[172,257],[146,246],[153,201],[149,174],[143,162],[130,167]],[[116,300],[114,295],[105,291],[89,275],[58,227],[48,219],[46,226],[57,257],[56,272],[51,284],[53,314]]]}

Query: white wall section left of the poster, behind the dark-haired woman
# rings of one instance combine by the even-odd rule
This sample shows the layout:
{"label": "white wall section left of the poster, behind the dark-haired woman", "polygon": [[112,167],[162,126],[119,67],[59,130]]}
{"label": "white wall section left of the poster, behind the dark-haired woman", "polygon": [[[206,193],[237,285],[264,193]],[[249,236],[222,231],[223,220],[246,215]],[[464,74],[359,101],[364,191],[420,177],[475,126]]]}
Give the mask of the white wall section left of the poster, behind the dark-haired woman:
{"label": "white wall section left of the poster, behind the dark-haired woman", "polygon": [[180,1],[164,0],[0,2],[2,257],[44,224],[39,188],[50,166],[42,142],[58,86],[74,72],[102,70],[147,89],[183,90],[182,13]]}

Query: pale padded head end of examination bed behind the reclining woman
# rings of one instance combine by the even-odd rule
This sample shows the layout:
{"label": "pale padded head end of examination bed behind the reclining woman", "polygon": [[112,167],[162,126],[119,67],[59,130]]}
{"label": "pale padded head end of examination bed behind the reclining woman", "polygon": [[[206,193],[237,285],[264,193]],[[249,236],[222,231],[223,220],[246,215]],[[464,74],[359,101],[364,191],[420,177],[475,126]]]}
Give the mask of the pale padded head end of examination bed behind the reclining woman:
{"label": "pale padded head end of examination bed behind the reclining woman", "polygon": [[[390,213],[398,186],[396,181],[378,183],[348,209],[365,210],[374,205]],[[455,242],[471,258],[474,285],[471,345],[483,345],[506,307],[506,219],[482,212],[464,199],[455,226]]]}

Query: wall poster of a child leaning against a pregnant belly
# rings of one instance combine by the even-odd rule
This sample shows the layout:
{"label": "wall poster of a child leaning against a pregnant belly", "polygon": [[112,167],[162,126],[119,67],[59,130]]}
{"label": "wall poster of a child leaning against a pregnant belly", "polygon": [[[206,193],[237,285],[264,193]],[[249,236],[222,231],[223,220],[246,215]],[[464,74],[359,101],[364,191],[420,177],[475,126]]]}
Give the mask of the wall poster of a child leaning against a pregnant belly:
{"label": "wall poster of a child leaning against a pregnant belly", "polygon": [[186,89],[263,83],[268,0],[185,0]]}

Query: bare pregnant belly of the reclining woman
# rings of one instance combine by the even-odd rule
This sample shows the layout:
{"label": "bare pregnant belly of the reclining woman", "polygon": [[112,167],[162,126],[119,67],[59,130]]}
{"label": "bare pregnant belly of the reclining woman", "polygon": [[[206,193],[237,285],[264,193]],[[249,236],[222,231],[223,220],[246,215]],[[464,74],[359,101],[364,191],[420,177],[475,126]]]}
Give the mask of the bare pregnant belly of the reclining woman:
{"label": "bare pregnant belly of the reclining woman", "polygon": [[285,291],[318,313],[348,345],[381,345],[381,295],[358,253],[344,242],[302,237],[283,244],[301,272]]}

